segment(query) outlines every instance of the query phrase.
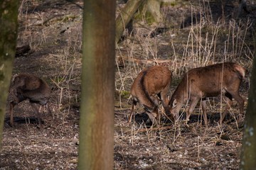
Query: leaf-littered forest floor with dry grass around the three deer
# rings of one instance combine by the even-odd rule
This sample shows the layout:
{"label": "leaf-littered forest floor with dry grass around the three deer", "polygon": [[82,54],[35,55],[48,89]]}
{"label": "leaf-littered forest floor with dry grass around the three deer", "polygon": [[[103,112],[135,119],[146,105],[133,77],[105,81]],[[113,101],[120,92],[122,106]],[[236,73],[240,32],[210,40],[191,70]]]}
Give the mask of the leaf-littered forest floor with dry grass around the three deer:
{"label": "leaf-littered forest floor with dry grass around the three deer", "polygon": [[[28,72],[48,82],[54,120],[41,107],[44,128],[38,129],[26,101],[14,109],[15,127],[11,128],[7,105],[0,169],[78,169],[82,6],[81,0],[21,1],[18,47],[30,45],[31,50],[16,57],[14,74]],[[117,9],[122,6],[118,1]],[[188,125],[162,121],[159,128],[149,128],[142,108],[137,111],[142,114],[137,114],[132,124],[127,123],[132,81],[142,68],[161,62],[174,74],[170,95],[190,68],[221,61],[239,62],[248,70],[240,88],[246,107],[254,53],[251,18],[235,21],[233,13],[237,8],[237,1],[227,2],[224,13],[218,1],[177,2],[161,9],[164,23],[159,24],[158,31],[134,28],[134,35],[126,34],[117,45],[114,169],[238,169],[244,116],[242,120],[232,116],[238,115],[236,102],[221,126],[217,123],[223,111],[220,98],[208,99],[208,127],[201,123],[200,103]],[[207,21],[208,10],[212,21]],[[204,13],[204,17],[198,16],[200,22],[194,30],[191,13],[195,17]],[[225,18],[218,20],[221,16]],[[198,38],[192,40],[194,43],[190,42],[191,35]],[[186,112],[186,107],[183,110]],[[186,114],[181,114],[185,118]]]}

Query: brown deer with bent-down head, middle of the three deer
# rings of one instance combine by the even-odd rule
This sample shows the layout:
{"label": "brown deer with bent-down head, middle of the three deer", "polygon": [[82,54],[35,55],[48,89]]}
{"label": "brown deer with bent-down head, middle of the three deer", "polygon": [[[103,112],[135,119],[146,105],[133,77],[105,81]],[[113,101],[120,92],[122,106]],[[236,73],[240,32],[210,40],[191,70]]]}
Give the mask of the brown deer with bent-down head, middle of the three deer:
{"label": "brown deer with bent-down head, middle of the three deer", "polygon": [[152,66],[142,70],[132,84],[132,111],[129,115],[129,123],[134,115],[134,108],[140,103],[149,115],[152,123],[156,123],[159,98],[164,110],[169,115],[167,93],[171,85],[171,72],[167,67]]}

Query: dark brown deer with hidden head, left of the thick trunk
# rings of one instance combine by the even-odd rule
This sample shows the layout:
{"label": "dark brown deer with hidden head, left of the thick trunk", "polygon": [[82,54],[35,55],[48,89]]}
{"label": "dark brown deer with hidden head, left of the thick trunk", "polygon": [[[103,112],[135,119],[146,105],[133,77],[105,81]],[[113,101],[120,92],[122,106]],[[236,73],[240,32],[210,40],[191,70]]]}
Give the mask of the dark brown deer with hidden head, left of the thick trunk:
{"label": "dark brown deer with hidden head, left of the thick trunk", "polygon": [[36,107],[36,103],[41,106],[46,105],[48,113],[51,113],[48,106],[50,98],[50,87],[42,79],[33,74],[17,74],[14,76],[10,86],[10,124],[14,127],[14,106],[26,99],[29,100],[33,111],[36,113],[38,123],[41,128],[41,116]]}

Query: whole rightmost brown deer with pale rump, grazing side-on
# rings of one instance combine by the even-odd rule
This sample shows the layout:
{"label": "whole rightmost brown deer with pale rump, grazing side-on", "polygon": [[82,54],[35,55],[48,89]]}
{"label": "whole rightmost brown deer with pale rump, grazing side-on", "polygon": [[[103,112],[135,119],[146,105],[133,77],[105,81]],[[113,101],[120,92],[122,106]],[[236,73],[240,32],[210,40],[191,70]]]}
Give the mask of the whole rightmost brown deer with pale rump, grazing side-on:
{"label": "whole rightmost brown deer with pale rump, grazing side-on", "polygon": [[239,86],[243,77],[245,77],[245,69],[239,64],[232,62],[191,69],[185,74],[181,83],[178,84],[174,94],[171,96],[169,102],[169,106],[171,107],[170,112],[178,118],[182,104],[186,101],[191,101],[191,106],[186,113],[187,123],[196,104],[199,100],[202,100],[203,119],[207,125],[206,98],[218,96],[224,92],[226,106],[225,111],[220,114],[220,124],[228,113],[228,109],[232,104],[232,98],[238,101],[240,114],[242,114],[244,100],[239,94]]}

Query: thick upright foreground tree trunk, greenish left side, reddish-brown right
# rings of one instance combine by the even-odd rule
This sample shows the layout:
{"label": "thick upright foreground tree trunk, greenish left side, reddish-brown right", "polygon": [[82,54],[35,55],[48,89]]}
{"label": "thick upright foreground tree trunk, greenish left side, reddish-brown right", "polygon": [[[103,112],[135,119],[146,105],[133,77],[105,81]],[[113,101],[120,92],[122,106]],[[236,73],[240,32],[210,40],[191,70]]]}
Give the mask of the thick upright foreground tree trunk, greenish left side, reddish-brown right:
{"label": "thick upright foreground tree trunk, greenish left side, reddish-brown right", "polygon": [[84,4],[78,169],[113,169],[115,1]]}

